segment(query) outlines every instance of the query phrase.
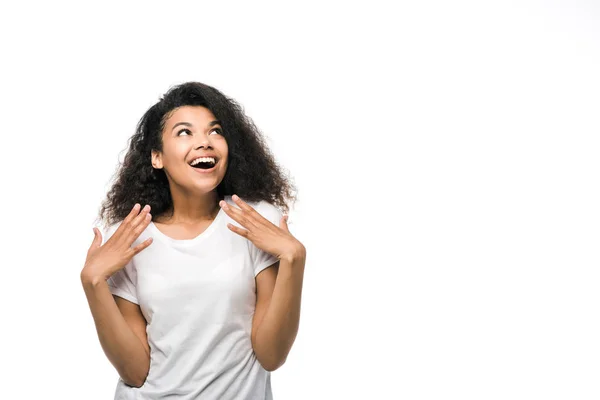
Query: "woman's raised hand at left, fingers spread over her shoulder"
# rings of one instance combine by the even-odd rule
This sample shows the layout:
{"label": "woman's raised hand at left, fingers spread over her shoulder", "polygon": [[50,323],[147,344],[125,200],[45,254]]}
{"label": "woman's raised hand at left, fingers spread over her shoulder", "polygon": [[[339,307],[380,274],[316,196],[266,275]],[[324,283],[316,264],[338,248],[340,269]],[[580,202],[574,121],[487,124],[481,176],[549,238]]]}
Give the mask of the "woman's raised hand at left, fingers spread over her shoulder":
{"label": "woman's raised hand at left, fingers spread over her shoulder", "polygon": [[150,246],[152,238],[144,240],[133,249],[131,248],[133,242],[152,219],[149,205],[146,205],[141,212],[138,211],[139,209],[140,205],[136,204],[115,233],[103,245],[101,245],[100,230],[94,228],[94,241],[88,249],[85,266],[81,271],[82,277],[107,280],[112,274],[125,267],[133,256]]}

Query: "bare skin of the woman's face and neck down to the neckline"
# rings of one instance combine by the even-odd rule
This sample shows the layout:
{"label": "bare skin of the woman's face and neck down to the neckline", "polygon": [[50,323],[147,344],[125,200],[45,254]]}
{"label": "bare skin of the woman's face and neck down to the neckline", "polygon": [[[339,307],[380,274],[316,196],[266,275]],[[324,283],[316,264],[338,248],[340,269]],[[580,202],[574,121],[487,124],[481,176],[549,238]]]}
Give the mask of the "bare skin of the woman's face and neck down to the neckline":
{"label": "bare skin of the woman's face and neck down to the neckline", "polygon": [[[152,151],[152,166],[164,169],[173,199],[173,216],[156,216],[154,222],[174,239],[197,236],[219,212],[217,186],[227,171],[228,146],[219,131],[221,125],[210,125],[214,120],[206,107],[179,107],[165,123],[163,151]],[[191,126],[175,127],[180,122]],[[210,174],[194,171],[189,162],[207,153],[218,158],[216,170]]]}

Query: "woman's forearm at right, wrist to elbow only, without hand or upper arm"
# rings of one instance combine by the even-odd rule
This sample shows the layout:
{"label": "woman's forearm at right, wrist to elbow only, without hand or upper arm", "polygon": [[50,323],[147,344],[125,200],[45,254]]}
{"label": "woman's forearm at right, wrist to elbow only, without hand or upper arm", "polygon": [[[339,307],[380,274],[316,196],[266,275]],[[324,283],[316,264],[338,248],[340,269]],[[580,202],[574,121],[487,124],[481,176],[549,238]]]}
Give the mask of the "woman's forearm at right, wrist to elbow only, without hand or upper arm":
{"label": "woman's forearm at right, wrist to elbow only, without hand or upper arm", "polygon": [[271,302],[257,328],[254,351],[270,370],[285,362],[298,333],[305,258],[300,254],[279,261]]}

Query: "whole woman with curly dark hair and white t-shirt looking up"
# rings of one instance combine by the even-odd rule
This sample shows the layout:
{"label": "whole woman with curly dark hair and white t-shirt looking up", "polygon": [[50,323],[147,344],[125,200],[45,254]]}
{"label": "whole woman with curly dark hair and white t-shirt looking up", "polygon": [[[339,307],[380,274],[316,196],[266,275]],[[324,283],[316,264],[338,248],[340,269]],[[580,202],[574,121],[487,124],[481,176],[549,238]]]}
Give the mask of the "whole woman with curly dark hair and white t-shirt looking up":
{"label": "whole woman with curly dark hair and white t-shirt looking up", "polygon": [[140,120],[81,281],[115,399],[272,399],[296,337],[306,249],[281,172],[242,107],[171,88]]}

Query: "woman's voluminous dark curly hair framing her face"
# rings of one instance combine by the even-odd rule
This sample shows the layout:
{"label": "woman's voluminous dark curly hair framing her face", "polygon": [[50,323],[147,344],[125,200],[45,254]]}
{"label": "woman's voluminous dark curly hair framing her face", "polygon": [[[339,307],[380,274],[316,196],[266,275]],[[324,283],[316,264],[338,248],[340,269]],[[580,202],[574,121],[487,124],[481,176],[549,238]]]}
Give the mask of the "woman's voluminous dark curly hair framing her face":
{"label": "woman's voluminous dark curly hair framing her face", "polygon": [[125,158],[111,178],[114,183],[102,202],[100,221],[106,226],[122,221],[135,203],[149,204],[156,217],[173,213],[166,173],[152,166],[151,151],[163,150],[165,123],[182,106],[204,106],[222,121],[229,152],[225,176],[217,186],[220,200],[237,194],[247,202],[265,200],[289,210],[286,199],[296,201],[296,187],[243,107],[212,86],[186,82],[169,88],[138,122]]}

